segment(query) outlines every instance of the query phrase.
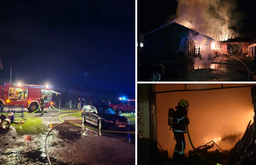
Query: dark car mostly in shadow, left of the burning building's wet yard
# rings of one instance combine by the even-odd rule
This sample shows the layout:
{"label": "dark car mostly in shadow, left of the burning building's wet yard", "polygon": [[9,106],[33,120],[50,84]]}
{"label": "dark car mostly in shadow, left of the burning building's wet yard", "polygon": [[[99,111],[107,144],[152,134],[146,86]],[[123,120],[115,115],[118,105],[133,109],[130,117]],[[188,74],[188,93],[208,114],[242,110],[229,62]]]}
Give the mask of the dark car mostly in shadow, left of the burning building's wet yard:
{"label": "dark car mostly in shadow, left of the burning building's wet yard", "polygon": [[139,82],[160,82],[164,76],[164,66],[157,62],[138,60],[137,80]]}

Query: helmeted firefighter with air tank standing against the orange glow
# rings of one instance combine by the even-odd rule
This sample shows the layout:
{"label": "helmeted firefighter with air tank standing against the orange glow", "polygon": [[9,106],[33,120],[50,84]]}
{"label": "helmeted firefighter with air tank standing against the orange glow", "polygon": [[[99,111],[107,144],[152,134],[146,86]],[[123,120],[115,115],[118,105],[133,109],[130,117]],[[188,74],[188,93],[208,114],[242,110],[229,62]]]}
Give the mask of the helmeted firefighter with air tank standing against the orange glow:
{"label": "helmeted firefighter with air tank standing against the orange glow", "polygon": [[189,101],[181,99],[178,105],[175,107],[177,110],[174,111],[173,118],[173,133],[174,139],[176,139],[176,145],[173,153],[173,160],[180,164],[185,161],[185,137],[184,133],[187,133],[186,125],[189,124],[189,118],[187,117],[187,111],[189,111]]}

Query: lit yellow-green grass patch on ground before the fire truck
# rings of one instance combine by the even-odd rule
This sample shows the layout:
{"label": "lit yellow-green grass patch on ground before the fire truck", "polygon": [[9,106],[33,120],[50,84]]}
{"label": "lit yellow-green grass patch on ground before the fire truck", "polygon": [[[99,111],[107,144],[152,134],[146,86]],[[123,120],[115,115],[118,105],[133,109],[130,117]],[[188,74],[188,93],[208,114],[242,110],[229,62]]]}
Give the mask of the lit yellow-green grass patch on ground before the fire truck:
{"label": "lit yellow-green grass patch on ground before the fire truck", "polygon": [[[15,122],[23,121],[22,118],[15,118]],[[24,124],[16,125],[12,123],[18,135],[39,135],[48,131],[48,127],[41,121],[40,118],[27,118]]]}

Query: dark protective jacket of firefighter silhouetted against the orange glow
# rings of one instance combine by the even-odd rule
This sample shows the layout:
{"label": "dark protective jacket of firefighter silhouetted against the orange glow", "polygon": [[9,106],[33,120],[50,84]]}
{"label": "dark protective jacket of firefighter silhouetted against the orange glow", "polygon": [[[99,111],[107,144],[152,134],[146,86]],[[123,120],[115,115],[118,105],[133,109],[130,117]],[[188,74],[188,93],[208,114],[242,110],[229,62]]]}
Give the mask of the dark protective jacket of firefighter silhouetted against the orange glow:
{"label": "dark protective jacket of firefighter silhouetted against the orange glow", "polygon": [[177,110],[174,111],[173,118],[173,132],[187,133],[186,125],[189,124],[189,118],[187,117],[187,110],[185,107],[178,105],[175,107]]}

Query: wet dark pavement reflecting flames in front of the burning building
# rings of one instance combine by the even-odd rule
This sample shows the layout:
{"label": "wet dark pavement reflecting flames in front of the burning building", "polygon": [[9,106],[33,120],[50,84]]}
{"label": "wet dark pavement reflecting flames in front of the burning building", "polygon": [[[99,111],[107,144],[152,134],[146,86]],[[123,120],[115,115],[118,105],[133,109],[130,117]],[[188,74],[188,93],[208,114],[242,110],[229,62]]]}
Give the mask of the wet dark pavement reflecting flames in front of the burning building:
{"label": "wet dark pavement reflecting flames in front of the burning building", "polygon": [[213,57],[210,59],[194,57],[194,59],[181,62],[180,64],[166,64],[164,67],[166,67],[166,74],[163,81],[166,82],[246,82],[248,78],[249,81],[256,80],[256,75],[254,75],[250,67],[249,76],[249,72],[244,64],[229,56]]}

